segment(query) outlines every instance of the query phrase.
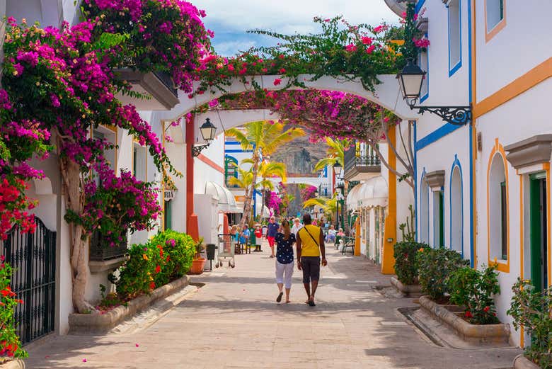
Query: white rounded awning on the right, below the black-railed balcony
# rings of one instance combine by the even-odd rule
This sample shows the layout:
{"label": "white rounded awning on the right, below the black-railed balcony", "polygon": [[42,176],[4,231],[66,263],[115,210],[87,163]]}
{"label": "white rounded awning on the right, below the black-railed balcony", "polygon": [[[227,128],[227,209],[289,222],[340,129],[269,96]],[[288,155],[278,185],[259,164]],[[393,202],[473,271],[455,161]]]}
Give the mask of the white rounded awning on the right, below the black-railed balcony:
{"label": "white rounded awning on the right, below the black-railed balcony", "polygon": [[[355,191],[356,190],[356,191]],[[372,208],[373,206],[387,206],[389,202],[389,188],[383,176],[370,178],[360,183],[347,195],[347,208]]]}

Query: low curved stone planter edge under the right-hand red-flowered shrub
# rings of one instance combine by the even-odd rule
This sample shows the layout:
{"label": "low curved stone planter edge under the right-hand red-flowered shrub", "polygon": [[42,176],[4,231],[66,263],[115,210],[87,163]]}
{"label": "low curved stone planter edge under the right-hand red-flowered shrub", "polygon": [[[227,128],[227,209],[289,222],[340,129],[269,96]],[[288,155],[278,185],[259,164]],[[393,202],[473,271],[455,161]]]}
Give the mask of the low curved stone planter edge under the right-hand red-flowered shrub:
{"label": "low curved stone planter edge under the right-hand red-flowered shrub", "polygon": [[[470,324],[456,315],[459,307],[456,305],[439,305],[430,297],[420,297],[420,305],[432,317],[453,329],[461,339],[474,343],[508,343],[510,327],[508,324]],[[456,311],[454,311],[456,310]]]}

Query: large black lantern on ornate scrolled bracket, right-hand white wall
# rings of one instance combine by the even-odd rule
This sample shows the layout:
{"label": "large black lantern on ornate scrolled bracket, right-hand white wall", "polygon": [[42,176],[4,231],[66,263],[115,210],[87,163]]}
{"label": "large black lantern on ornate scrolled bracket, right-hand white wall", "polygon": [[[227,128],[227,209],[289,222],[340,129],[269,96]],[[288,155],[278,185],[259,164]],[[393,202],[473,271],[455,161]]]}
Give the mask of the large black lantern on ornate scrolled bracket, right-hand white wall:
{"label": "large black lantern on ornate scrolled bracket, right-hand white wall", "polygon": [[408,59],[406,66],[397,74],[398,86],[401,89],[403,99],[410,109],[418,109],[418,114],[426,111],[439,115],[445,122],[454,125],[471,123],[471,106],[415,106],[420,98],[425,72]]}

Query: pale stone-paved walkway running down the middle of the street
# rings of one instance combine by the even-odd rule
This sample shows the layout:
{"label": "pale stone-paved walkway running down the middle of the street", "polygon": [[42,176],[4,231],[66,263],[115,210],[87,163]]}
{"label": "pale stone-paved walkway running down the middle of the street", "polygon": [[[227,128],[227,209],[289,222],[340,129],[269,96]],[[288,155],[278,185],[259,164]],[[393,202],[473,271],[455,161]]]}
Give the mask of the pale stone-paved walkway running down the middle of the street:
{"label": "pale stone-paved walkway running down the middle of the street", "polygon": [[488,369],[510,368],[519,352],[435,346],[396,311],[413,300],[376,290],[389,276],[329,247],[316,307],[304,304],[297,269],[292,303],[277,304],[267,249],[192,278],[205,286],[144,329],[55,337],[30,349],[28,368]]}

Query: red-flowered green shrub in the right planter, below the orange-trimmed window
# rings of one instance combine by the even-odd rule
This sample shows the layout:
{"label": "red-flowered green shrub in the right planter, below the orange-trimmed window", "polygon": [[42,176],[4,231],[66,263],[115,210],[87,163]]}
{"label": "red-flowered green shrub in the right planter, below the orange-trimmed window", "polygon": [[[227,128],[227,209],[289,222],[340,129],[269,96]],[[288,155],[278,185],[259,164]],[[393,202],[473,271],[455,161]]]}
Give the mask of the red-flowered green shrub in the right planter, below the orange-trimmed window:
{"label": "red-flowered green shrub in the right planter, below the orange-trimmed window", "polygon": [[464,307],[471,324],[497,324],[493,295],[500,293],[496,264],[483,271],[464,266],[452,272],[447,280],[450,302]]}

